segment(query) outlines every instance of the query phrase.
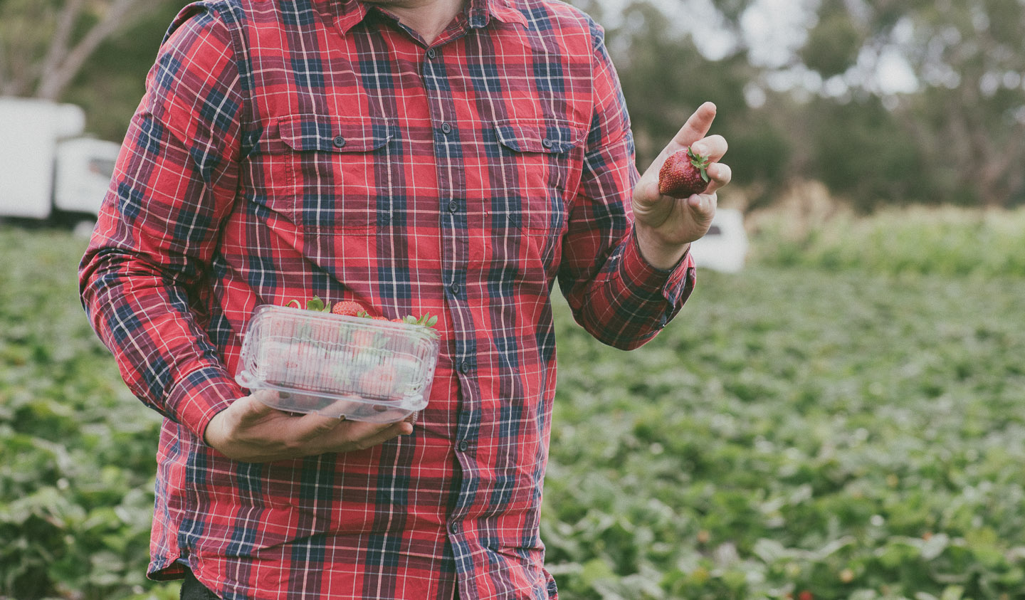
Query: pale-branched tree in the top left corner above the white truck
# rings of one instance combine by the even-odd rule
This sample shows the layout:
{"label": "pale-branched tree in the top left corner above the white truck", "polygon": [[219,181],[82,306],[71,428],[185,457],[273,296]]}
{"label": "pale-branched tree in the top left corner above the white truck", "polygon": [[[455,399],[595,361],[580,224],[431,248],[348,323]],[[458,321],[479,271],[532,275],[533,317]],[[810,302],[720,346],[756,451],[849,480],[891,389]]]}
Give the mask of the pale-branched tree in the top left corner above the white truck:
{"label": "pale-branched tree in the top left corner above the white truck", "polygon": [[0,94],[57,99],[100,44],[169,0],[0,0]]}

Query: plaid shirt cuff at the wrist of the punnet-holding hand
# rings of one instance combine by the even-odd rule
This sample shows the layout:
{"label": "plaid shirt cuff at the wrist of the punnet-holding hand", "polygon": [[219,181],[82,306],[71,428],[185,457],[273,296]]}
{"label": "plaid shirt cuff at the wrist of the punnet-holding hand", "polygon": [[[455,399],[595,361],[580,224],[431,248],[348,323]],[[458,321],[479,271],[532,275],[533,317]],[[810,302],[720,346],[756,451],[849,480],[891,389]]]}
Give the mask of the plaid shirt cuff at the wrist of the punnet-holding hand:
{"label": "plaid shirt cuff at the wrist of the punnet-holding hand", "polygon": [[167,409],[200,440],[213,415],[242,397],[242,388],[222,368],[204,366],[181,377],[167,397]]}

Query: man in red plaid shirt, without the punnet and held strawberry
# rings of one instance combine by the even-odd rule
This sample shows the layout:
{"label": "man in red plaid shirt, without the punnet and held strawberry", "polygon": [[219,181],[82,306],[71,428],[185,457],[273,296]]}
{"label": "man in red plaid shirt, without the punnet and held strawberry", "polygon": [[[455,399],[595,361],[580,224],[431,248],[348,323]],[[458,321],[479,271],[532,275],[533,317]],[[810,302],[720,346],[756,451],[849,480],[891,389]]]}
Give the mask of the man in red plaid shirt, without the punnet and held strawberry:
{"label": "man in red plaid shirt, without the punnet and held strawberry", "polygon": [[[250,598],[555,598],[538,536],[549,293],[602,342],[690,294],[714,107],[640,176],[603,34],[548,0],[210,0],[172,25],[82,262],[83,303],[164,416],[150,576]],[[658,193],[696,144],[708,191]],[[439,315],[415,423],[269,408],[254,308]]]}

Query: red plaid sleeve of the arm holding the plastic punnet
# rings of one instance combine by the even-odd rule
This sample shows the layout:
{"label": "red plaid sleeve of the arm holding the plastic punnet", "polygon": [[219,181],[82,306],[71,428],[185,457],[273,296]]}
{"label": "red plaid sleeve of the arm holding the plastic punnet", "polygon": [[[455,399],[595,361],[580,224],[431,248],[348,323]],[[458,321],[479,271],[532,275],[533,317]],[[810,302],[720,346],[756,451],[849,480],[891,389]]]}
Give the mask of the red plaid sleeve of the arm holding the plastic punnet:
{"label": "red plaid sleeve of the arm holding the plastic punnet", "polygon": [[83,306],[128,387],[199,437],[241,395],[197,309],[236,195],[242,111],[228,29],[212,12],[182,12],[147,78],[79,270]]}

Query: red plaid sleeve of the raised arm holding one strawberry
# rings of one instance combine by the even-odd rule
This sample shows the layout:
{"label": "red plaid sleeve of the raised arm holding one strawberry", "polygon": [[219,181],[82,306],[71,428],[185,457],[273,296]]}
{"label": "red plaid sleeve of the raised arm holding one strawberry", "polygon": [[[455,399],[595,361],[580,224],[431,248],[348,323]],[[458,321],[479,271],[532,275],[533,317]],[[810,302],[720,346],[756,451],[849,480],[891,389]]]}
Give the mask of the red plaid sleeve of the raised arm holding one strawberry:
{"label": "red plaid sleeve of the raised arm holding one strawberry", "polygon": [[641,253],[629,204],[640,178],[629,116],[602,29],[592,24],[591,31],[594,111],[559,280],[584,329],[630,350],[679,313],[694,289],[695,266],[690,252],[669,270],[652,267]]}

